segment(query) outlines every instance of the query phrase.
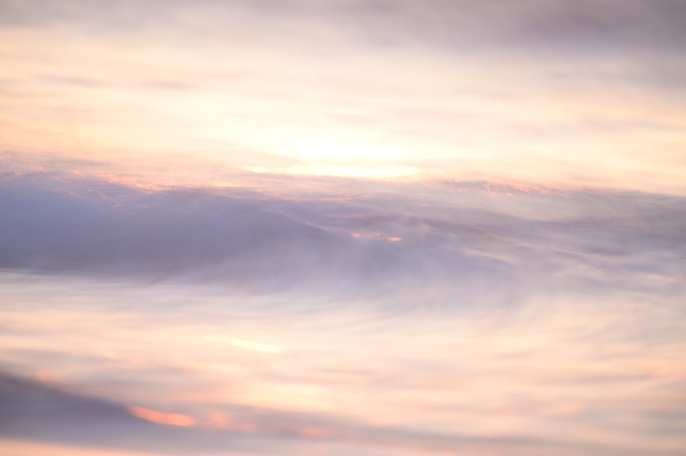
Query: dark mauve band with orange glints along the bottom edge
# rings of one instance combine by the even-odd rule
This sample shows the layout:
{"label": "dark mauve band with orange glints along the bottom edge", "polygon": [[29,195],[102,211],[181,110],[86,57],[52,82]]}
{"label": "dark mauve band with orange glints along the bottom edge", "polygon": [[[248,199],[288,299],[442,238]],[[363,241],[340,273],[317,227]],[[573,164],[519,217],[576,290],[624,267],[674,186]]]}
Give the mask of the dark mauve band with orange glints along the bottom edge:
{"label": "dark mauve band with orange glints along the bottom edge", "polygon": [[[295,454],[298,448],[308,448],[307,442],[337,441],[352,445],[351,451],[357,445],[369,446],[370,455],[383,455],[384,448],[449,455],[469,450],[495,455],[499,448],[508,448],[512,455],[555,455],[574,448],[575,454],[591,455],[602,448],[525,437],[418,433],[265,409],[213,411],[201,421],[182,413],[119,405],[63,389],[0,374],[0,435],[13,440],[167,455],[214,455],[226,454],[227,450],[231,454]],[[334,454],[321,444],[317,448],[324,448],[323,454]]]}

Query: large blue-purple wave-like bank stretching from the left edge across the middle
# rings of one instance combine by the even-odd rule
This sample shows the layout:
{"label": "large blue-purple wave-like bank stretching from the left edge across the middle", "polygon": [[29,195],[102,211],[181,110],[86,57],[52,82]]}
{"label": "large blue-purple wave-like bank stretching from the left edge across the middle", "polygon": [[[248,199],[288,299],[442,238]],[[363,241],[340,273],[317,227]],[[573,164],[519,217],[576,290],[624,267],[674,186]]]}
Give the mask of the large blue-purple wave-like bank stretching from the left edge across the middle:
{"label": "large blue-purple wave-like bank stretching from the left edge across the middle", "polygon": [[340,293],[416,287],[436,275],[469,288],[486,272],[508,274],[497,259],[423,242],[421,221],[354,203],[38,180],[21,176],[2,189],[3,267]]}

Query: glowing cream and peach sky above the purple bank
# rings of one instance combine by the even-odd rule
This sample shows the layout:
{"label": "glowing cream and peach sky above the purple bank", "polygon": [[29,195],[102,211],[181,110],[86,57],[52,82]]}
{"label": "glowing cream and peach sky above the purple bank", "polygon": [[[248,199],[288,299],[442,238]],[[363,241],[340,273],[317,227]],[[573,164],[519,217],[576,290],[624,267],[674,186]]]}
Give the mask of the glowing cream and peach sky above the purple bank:
{"label": "glowing cream and peach sky above the purple bank", "polygon": [[196,182],[248,171],[686,191],[681,0],[0,8],[6,152]]}

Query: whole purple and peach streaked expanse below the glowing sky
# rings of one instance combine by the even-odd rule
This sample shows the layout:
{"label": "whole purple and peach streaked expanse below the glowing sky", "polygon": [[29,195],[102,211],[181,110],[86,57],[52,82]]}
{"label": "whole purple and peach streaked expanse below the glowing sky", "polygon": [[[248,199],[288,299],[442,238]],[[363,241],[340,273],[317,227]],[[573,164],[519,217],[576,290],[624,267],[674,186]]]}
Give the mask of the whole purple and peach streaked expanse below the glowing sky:
{"label": "whole purple and peach streaked expanse below the glowing sky", "polygon": [[[111,407],[96,420],[67,389],[17,398],[16,438],[678,454],[683,197],[292,176],[165,187],[62,165],[0,180],[0,363]],[[60,410],[93,435],[40,425]]]}

